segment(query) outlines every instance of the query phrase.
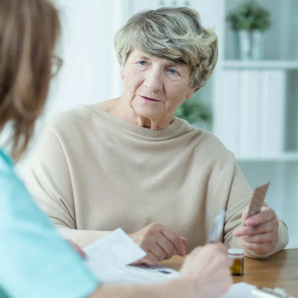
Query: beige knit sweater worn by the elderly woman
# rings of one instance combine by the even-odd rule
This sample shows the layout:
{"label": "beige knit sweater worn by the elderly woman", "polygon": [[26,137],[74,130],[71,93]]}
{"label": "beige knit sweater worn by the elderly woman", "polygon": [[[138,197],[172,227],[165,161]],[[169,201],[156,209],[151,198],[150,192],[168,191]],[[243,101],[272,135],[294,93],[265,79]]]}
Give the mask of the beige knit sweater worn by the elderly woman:
{"label": "beige knit sweater worn by the elderly woman", "polygon": [[[133,233],[157,222],[186,237],[190,252],[208,241],[215,217],[226,209],[223,240],[241,247],[232,231],[252,190],[233,153],[184,120],[154,131],[96,105],[77,107],[52,119],[33,156],[25,175],[29,191],[61,233],[81,246],[117,227]],[[280,221],[270,254],[287,243]]]}

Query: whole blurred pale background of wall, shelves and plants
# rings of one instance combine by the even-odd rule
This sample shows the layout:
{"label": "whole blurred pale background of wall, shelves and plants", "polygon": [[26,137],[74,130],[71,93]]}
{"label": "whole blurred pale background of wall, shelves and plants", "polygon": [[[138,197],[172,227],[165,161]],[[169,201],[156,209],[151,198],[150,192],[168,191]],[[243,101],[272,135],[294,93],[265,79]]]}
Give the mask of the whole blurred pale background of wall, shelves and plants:
{"label": "whole blurred pale background of wall, shelves and plants", "polygon": [[[254,188],[268,181],[267,201],[298,247],[298,0],[55,0],[64,60],[53,80],[44,122],[78,104],[122,93],[113,35],[141,9],[197,9],[219,37],[213,77],[176,115],[212,131],[235,153]],[[30,152],[19,165],[25,169]]]}

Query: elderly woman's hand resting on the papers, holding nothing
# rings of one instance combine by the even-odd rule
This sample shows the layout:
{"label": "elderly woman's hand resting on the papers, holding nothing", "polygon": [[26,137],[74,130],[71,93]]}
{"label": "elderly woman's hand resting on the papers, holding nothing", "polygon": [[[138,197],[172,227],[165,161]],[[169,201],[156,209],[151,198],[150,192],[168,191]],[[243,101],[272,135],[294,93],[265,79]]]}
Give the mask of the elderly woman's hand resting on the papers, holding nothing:
{"label": "elderly woman's hand resting on the papers, holding nothing", "polygon": [[162,224],[149,224],[129,236],[147,252],[147,256],[138,263],[145,262],[153,265],[158,261],[170,259],[174,250],[180,256],[185,256],[187,239]]}

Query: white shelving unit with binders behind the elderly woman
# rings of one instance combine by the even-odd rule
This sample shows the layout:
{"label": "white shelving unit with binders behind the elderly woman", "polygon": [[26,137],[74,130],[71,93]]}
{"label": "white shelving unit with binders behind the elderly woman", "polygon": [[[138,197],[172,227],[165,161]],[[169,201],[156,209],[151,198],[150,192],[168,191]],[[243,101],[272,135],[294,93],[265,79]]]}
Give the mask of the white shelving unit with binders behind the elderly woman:
{"label": "white shelving unit with binders behind the elderly woman", "polygon": [[236,156],[254,188],[271,182],[267,202],[288,224],[298,247],[298,0],[258,0],[272,15],[264,60],[236,59],[225,21],[244,0],[128,0],[128,16],[162,5],[189,5],[219,37],[215,73],[198,92],[214,111],[213,132]]}

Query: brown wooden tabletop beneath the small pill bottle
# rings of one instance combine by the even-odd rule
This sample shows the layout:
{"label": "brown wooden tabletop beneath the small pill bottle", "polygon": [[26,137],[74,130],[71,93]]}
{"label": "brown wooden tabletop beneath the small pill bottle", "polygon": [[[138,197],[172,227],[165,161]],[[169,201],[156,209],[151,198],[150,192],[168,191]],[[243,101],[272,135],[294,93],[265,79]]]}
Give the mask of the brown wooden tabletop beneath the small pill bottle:
{"label": "brown wooden tabletop beneath the small pill bottle", "polygon": [[[174,256],[161,264],[179,270],[183,259]],[[265,260],[245,258],[243,277],[233,279],[234,283],[243,281],[260,287],[282,287],[287,294],[298,298],[298,249],[285,249]]]}

